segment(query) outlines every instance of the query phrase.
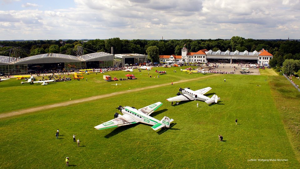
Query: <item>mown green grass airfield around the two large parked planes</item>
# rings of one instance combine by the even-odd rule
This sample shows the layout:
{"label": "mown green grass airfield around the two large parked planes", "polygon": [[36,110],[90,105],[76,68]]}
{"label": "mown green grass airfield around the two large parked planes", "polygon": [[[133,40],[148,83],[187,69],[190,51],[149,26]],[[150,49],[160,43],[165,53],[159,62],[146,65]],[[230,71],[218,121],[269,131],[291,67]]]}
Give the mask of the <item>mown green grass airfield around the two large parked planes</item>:
{"label": "mown green grass airfield around the two large parked planes", "polygon": [[[12,86],[1,82],[0,87],[5,91],[1,92],[1,98],[14,97],[11,104],[4,102],[9,108],[1,106],[1,112],[115,91],[130,92],[0,119],[0,168],[63,168],[66,156],[70,157],[70,166],[79,168],[298,168],[300,108],[291,104],[299,105],[300,95],[284,77],[232,74],[211,77],[185,74],[178,69],[173,73],[173,69],[176,68],[164,68],[168,74],[159,79],[149,78],[147,71],[134,72],[137,80],[118,81],[122,84],[118,86],[111,85],[115,82],[105,82],[99,74],[87,76],[88,81],[72,80],[48,86],[25,86],[17,80],[18,84],[9,81]],[[110,74],[123,77],[125,73]],[[133,90],[195,78],[200,79]],[[175,96],[179,87],[198,90],[207,86],[212,87],[208,97],[213,94],[221,97],[218,104],[190,101],[171,106],[166,101]],[[31,97],[21,99],[16,97],[18,93]],[[101,131],[93,128],[111,120],[119,105],[141,108],[157,101],[163,105],[151,116],[159,120],[163,116],[173,118],[169,129],[153,131],[144,124]],[[59,139],[55,139],[57,129]],[[73,134],[80,139],[81,147],[73,142]],[[218,141],[217,135],[222,135],[225,141]]]}

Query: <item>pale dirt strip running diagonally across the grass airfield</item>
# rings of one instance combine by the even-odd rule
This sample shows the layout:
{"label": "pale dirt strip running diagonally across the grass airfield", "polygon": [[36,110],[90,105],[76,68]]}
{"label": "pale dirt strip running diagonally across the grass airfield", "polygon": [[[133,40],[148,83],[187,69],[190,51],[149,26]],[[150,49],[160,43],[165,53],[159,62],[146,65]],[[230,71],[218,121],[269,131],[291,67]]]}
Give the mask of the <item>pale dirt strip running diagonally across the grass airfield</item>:
{"label": "pale dirt strip running diagonally across the grass airfield", "polygon": [[[193,80],[199,80],[199,79],[205,79],[205,78],[212,77],[212,76],[217,76],[217,75],[219,75],[219,74],[212,74],[212,75],[199,77],[199,78],[195,78],[195,79],[179,80],[177,82],[173,82],[173,84],[178,84],[178,83],[183,83],[183,82],[188,82],[188,81],[193,81]],[[126,93],[132,92],[132,91],[141,91],[141,90],[153,89],[153,88],[167,86],[167,85],[170,85],[170,83],[154,85],[154,86],[148,86],[148,87],[138,88],[138,89],[134,89],[134,90],[126,90],[126,91],[121,91],[121,92],[115,92],[115,93],[110,93],[110,94],[106,94],[106,95],[91,96],[91,97],[87,97],[87,98],[83,98],[83,99],[70,100],[70,101],[65,101],[65,102],[62,102],[62,103],[55,103],[55,104],[52,104],[52,105],[43,105],[43,106],[38,106],[38,107],[33,107],[33,108],[28,108],[28,109],[23,109],[23,110],[12,111],[12,112],[9,112],[9,113],[0,114],[0,119],[7,118],[7,117],[12,117],[12,116],[17,116],[17,115],[22,115],[22,114],[26,114],[26,113],[31,113],[31,112],[35,112],[35,111],[40,111],[40,110],[47,110],[47,109],[61,107],[61,106],[73,105],[73,104],[82,103],[82,102],[86,102],[86,101],[93,101],[93,100],[102,99],[102,98],[105,98],[105,97],[122,95],[122,94],[126,94]]]}

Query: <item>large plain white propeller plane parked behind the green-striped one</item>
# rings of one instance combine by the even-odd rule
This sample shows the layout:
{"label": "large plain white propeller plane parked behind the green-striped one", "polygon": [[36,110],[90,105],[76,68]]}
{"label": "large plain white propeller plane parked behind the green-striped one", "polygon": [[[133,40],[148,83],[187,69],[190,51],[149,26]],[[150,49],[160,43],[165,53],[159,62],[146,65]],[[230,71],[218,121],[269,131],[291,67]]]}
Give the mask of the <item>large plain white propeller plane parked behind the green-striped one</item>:
{"label": "large plain white propeller plane parked behind the green-striped one", "polygon": [[206,87],[203,89],[199,89],[196,91],[190,90],[190,88],[180,88],[177,95],[175,97],[171,97],[167,99],[168,101],[183,101],[183,100],[201,100],[205,101],[205,103],[217,103],[220,98],[217,95],[213,95],[211,98],[205,96],[204,94],[207,93],[209,90],[211,90],[211,87]]}

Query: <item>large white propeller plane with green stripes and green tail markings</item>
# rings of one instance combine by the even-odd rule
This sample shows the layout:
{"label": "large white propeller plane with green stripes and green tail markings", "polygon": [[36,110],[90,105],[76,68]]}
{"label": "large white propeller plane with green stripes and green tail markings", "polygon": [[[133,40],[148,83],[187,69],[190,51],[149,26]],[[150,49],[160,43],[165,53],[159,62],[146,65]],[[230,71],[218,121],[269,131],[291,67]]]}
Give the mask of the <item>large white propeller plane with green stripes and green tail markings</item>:
{"label": "large white propeller plane with green stripes and green tail markings", "polygon": [[157,102],[152,105],[148,105],[146,107],[140,108],[138,110],[134,107],[119,106],[117,109],[120,110],[120,112],[122,112],[123,115],[115,113],[113,120],[109,120],[105,123],[97,125],[95,126],[95,128],[98,130],[102,130],[102,129],[108,129],[108,128],[118,127],[122,125],[135,124],[138,122],[145,123],[148,125],[153,125],[151,127],[153,130],[158,130],[162,127],[170,127],[170,123],[174,121],[173,119],[164,116],[163,119],[159,121],[150,116],[151,113],[153,113],[156,109],[158,109],[162,104],[163,103],[161,102]]}

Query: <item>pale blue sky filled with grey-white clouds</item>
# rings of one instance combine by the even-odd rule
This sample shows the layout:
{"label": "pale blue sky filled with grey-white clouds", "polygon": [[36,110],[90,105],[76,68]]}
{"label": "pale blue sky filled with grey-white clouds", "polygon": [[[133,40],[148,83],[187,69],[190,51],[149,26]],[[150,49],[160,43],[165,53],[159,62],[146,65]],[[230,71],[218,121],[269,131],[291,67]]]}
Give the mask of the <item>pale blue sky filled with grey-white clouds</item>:
{"label": "pale blue sky filled with grey-white clouds", "polygon": [[299,0],[0,0],[0,40],[300,39]]}

